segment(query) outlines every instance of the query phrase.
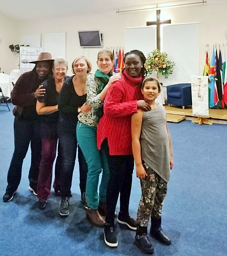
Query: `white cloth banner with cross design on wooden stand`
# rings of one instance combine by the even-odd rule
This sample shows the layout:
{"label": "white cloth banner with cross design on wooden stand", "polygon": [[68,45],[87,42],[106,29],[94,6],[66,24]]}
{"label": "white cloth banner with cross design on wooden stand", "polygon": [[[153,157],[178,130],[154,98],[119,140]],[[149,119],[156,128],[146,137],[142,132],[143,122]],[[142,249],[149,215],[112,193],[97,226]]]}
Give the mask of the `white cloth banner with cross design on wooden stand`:
{"label": "white cloth banner with cross design on wooden stand", "polygon": [[196,117],[209,117],[208,76],[191,76],[192,114]]}

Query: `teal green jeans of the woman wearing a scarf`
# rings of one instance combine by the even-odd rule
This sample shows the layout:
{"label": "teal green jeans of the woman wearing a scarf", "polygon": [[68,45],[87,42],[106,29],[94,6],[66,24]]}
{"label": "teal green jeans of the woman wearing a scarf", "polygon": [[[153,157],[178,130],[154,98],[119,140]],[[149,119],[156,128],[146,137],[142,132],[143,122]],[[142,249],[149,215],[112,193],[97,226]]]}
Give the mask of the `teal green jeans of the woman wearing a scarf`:
{"label": "teal green jeans of the woman wearing a scarf", "polygon": [[[98,209],[99,201],[106,202],[107,183],[110,177],[105,149],[98,149],[96,134],[96,127],[88,126],[81,122],[77,123],[77,141],[88,164],[86,198],[88,206],[92,209]],[[98,195],[99,175],[101,172],[102,179]]]}

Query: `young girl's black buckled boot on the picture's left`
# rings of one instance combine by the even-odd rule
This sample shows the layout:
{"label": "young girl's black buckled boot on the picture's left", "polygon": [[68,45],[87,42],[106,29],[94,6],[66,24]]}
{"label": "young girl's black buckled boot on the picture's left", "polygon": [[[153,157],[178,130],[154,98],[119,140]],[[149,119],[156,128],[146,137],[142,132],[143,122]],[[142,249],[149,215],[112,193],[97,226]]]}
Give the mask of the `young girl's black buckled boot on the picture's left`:
{"label": "young girl's black buckled boot on the picture's left", "polygon": [[147,237],[147,227],[137,225],[135,245],[144,253],[152,254],[154,252],[154,248]]}

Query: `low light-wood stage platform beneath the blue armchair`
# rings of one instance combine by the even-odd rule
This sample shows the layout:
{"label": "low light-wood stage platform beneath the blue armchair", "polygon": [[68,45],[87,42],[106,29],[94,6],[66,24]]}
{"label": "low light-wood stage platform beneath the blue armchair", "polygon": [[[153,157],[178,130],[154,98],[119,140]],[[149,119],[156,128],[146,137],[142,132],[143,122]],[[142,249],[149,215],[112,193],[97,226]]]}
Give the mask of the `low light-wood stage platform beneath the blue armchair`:
{"label": "low light-wood stage platform beneath the blue armchair", "polygon": [[[166,114],[167,114],[167,122],[179,123],[182,120],[195,120],[197,117],[193,117],[192,108],[185,107],[177,107],[171,105],[164,105]],[[209,109],[209,118],[207,118],[211,123],[216,124],[227,124],[227,109]]]}

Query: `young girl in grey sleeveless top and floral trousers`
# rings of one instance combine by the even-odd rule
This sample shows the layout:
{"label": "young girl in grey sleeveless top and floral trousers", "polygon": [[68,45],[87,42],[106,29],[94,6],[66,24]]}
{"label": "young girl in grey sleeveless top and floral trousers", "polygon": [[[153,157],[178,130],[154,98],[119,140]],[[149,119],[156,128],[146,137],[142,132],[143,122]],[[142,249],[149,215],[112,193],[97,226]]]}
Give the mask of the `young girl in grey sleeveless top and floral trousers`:
{"label": "young girl in grey sleeveless top and floral trousers", "polygon": [[163,200],[167,192],[170,169],[173,167],[173,150],[166,122],[165,109],[155,103],[160,94],[156,78],[147,77],[141,92],[151,110],[138,110],[132,115],[132,151],[136,176],[140,179],[142,196],[137,212],[136,246],[145,253],[154,249],[147,238],[147,225],[151,216],[150,234],[161,243],[169,245],[170,238],[162,231]]}

